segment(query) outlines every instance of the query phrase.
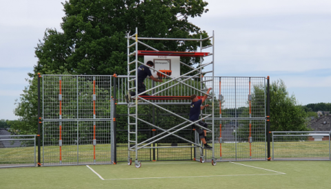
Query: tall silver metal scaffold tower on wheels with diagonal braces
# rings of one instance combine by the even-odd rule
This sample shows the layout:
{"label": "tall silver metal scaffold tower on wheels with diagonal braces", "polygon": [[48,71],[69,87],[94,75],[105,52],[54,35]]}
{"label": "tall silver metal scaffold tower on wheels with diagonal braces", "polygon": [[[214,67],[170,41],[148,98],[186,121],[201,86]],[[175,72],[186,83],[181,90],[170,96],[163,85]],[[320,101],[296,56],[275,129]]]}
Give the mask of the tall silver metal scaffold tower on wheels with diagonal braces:
{"label": "tall silver metal scaffold tower on wheels with diagonal braces", "polygon": [[[201,163],[203,163],[205,160],[205,157],[203,156],[203,147],[202,147],[202,144],[199,143],[199,141],[196,139],[195,141],[190,141],[188,139],[184,139],[183,137],[180,137],[179,135],[176,135],[175,133],[176,132],[179,132],[180,130],[183,130],[185,128],[188,128],[189,126],[192,126],[194,123],[198,123],[199,121],[202,121],[203,119],[207,119],[207,118],[210,118],[212,119],[212,129],[208,129],[208,128],[203,128],[202,126],[199,126],[199,124],[196,124],[196,126],[199,126],[201,128],[203,128],[204,130],[207,130],[209,132],[212,132],[212,165],[216,165],[216,158],[214,158],[214,92],[212,92],[212,94],[207,94],[206,92],[204,92],[203,90],[208,90],[208,89],[203,89],[203,82],[207,83],[207,82],[211,82],[212,83],[212,86],[214,86],[214,31],[212,33],[212,37],[208,37],[208,38],[205,38],[205,39],[202,39],[202,37],[200,37],[200,39],[173,39],[173,38],[147,38],[147,37],[138,37],[138,29],[136,28],[136,32],[132,35],[130,34],[127,34],[127,39],[128,39],[128,93],[130,93],[130,91],[133,91],[135,90],[136,92],[136,97],[134,98],[134,103],[131,103],[129,102],[128,103],[128,165],[131,165],[132,163],[132,157],[131,157],[131,152],[134,152],[135,154],[135,159],[134,159],[134,165],[137,167],[137,168],[140,168],[141,167],[141,162],[139,161],[138,159],[138,151],[142,148],[160,148],[158,146],[148,146],[152,143],[155,143],[165,137],[168,137],[170,135],[174,136],[174,137],[177,137],[179,139],[183,139],[184,141],[187,141],[188,143],[191,143],[192,145],[191,146],[177,146],[177,148],[199,148],[200,149],[200,152],[201,152],[201,156],[200,156],[200,161]],[[210,46],[205,46],[203,47],[202,46],[202,42],[205,41],[205,40],[209,40],[209,39],[212,39],[212,44]],[[134,43],[131,43],[130,44],[130,40],[134,40]],[[158,72],[159,74],[165,76],[165,77],[168,77],[170,78],[169,81],[165,81],[164,83],[161,83],[160,85],[158,86],[153,86],[152,88],[146,90],[145,92],[143,93],[146,93],[146,92],[152,92],[152,95],[156,95],[156,94],[159,94],[159,92],[155,92],[155,90],[157,88],[160,88],[161,86],[165,86],[166,84],[168,83],[172,83],[172,81],[174,82],[177,82],[176,84],[173,84],[172,86],[168,86],[168,88],[165,88],[163,90],[166,90],[166,89],[169,89],[169,88],[172,88],[176,85],[178,85],[179,83],[185,85],[185,86],[188,86],[188,88],[192,88],[193,90],[199,92],[200,94],[207,94],[208,97],[210,97],[212,99],[212,111],[210,112],[210,114],[208,115],[202,115],[201,114],[201,117],[198,121],[190,121],[189,119],[186,119],[185,117],[182,117],[180,115],[177,115],[176,113],[170,111],[170,110],[167,110],[165,108],[162,108],[161,106],[159,106],[157,103],[154,103],[153,101],[148,101],[147,99],[144,99],[143,97],[139,97],[139,94],[138,94],[138,67],[141,65],[143,65],[144,63],[142,63],[141,61],[138,60],[138,56],[139,55],[142,55],[142,53],[139,51],[138,49],[138,45],[141,44],[143,46],[146,46],[147,48],[150,48],[152,50],[154,50],[155,52],[159,52],[159,50],[155,49],[155,48],[152,48],[151,46],[148,46],[146,43],[143,43],[142,41],[139,41],[139,40],[169,40],[169,41],[199,41],[200,42],[200,52],[202,52],[203,49],[205,48],[212,48],[212,53],[200,53],[200,54],[203,54],[202,56],[199,56],[200,57],[200,63],[199,63],[199,66],[197,68],[193,68],[192,66],[189,66],[188,64],[186,63],[183,63],[183,62],[180,62],[183,66],[187,66],[188,68],[191,68],[191,70],[189,72],[186,72],[185,74],[181,74],[180,77],[177,77],[177,78],[173,78],[173,77],[169,77],[167,74],[164,74],[163,72],[159,72],[159,70],[156,70],[154,68],[150,68],[151,70],[154,70],[155,72]],[[130,52],[130,48],[131,47],[135,47],[135,50],[134,52]],[[139,54],[140,53],[140,54]],[[151,55],[153,53],[150,53],[150,54],[147,54],[147,55]],[[179,55],[178,55],[179,54]],[[180,56],[180,53],[176,53],[174,52],[174,55],[175,56]],[[188,54],[188,53],[187,53]],[[192,56],[192,55],[183,55],[183,56]],[[134,56],[134,61],[130,61],[130,57],[131,56]],[[202,63],[203,62],[203,58],[202,57],[206,57],[206,56],[212,56],[212,61],[210,63]],[[193,56],[192,56],[193,57]],[[131,67],[134,67],[134,69],[130,70],[130,65],[134,64],[134,66],[131,66]],[[210,71],[205,71],[203,72],[203,68],[205,68],[206,66],[209,66],[209,65],[212,65],[212,70]],[[130,77],[130,74],[132,74],[133,72],[135,72],[135,78],[131,78]],[[188,74],[192,73],[192,72],[198,72],[198,74],[194,74],[193,76],[190,76],[188,78],[185,78],[185,80],[188,80],[188,79],[192,79],[194,77],[196,77],[197,75],[200,75],[200,78],[201,78],[201,81],[200,81],[200,89],[199,88],[194,88],[194,86],[190,86],[188,85],[187,83],[184,83],[183,79],[184,77],[187,77]],[[212,77],[210,78],[210,80],[203,80],[203,74],[207,74],[207,73],[212,73]],[[185,81],[184,80],[184,81]],[[134,86],[130,87],[130,82],[134,81]],[[140,93],[141,94],[141,93]],[[150,105],[152,105],[153,107],[157,107],[161,110],[164,110],[165,112],[168,112],[170,113],[170,115],[174,115],[175,117],[179,117],[181,119],[183,119],[183,123],[179,123],[177,126],[173,126],[172,128],[168,129],[168,130],[165,130],[163,128],[160,128],[152,123],[149,123],[148,121],[145,121],[143,119],[140,119],[139,118],[139,114],[138,114],[138,107],[139,105],[141,104],[141,102],[144,102],[144,103],[148,103]],[[171,102],[170,102],[171,103]],[[132,111],[130,111],[131,108],[134,108],[134,113],[132,113]],[[189,109],[188,109],[189,111]],[[134,122],[130,122],[130,117],[134,118]],[[149,139],[147,139],[146,141],[142,141],[140,143],[138,143],[138,121],[141,121],[143,123],[147,123],[148,125],[152,126],[153,128],[157,128],[158,130],[162,130],[163,132],[159,133],[158,135],[155,135],[154,137],[151,137]],[[131,128],[132,126],[134,126],[134,128]],[[131,137],[131,135],[135,135],[134,137]],[[161,135],[164,135],[161,137]],[[174,148],[174,147],[162,147],[162,148]]]}

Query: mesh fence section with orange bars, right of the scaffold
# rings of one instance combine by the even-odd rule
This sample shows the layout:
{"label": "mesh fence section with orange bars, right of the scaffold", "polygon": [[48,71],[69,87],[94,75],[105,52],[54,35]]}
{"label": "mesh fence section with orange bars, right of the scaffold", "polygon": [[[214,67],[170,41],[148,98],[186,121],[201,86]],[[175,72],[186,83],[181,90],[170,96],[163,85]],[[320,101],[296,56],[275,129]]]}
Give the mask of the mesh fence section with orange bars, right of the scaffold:
{"label": "mesh fence section with orange bars, right of the scaffold", "polygon": [[[205,77],[205,80],[211,78]],[[221,161],[266,160],[266,78],[215,77],[215,154]],[[212,87],[211,82],[206,83]],[[203,110],[206,114],[208,108]],[[211,124],[212,119],[207,119]],[[210,151],[207,150],[210,159]]]}

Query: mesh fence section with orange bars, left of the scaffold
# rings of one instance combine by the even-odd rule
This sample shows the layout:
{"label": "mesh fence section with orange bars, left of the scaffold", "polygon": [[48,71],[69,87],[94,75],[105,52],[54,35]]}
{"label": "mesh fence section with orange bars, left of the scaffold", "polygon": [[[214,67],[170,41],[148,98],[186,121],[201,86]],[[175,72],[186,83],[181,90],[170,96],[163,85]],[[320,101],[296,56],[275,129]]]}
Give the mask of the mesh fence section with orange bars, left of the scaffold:
{"label": "mesh fence section with orange bars, left of the scaffold", "polygon": [[42,79],[43,166],[112,163],[111,76]]}

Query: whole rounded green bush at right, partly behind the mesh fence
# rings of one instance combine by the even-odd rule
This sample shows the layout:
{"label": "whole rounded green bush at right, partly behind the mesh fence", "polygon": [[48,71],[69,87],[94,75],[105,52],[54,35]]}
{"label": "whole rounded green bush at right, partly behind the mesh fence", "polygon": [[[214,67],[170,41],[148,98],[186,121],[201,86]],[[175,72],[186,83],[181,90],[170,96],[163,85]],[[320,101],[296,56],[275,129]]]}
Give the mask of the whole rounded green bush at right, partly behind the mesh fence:
{"label": "whole rounded green bush at right, partly behind the mesh fence", "polygon": [[[264,86],[253,86],[252,92],[252,110],[264,110],[264,104],[267,97],[261,98],[264,96],[264,91],[267,88]],[[266,94],[265,94],[266,95]],[[247,102],[249,103],[249,101]],[[246,108],[241,117],[248,117],[249,110]],[[252,114],[252,117],[263,117],[264,111],[257,111]],[[305,112],[303,106],[300,106],[295,99],[294,94],[291,96],[288,94],[288,91],[285,86],[285,82],[281,79],[273,81],[270,84],[270,130],[271,131],[305,131],[309,130],[308,128],[308,114]],[[248,139],[249,132],[249,121],[239,121],[239,124],[242,125],[239,128],[239,137],[243,139]],[[252,124],[252,130],[260,125]],[[259,135],[260,139],[264,139],[264,132],[257,133],[254,135]]]}

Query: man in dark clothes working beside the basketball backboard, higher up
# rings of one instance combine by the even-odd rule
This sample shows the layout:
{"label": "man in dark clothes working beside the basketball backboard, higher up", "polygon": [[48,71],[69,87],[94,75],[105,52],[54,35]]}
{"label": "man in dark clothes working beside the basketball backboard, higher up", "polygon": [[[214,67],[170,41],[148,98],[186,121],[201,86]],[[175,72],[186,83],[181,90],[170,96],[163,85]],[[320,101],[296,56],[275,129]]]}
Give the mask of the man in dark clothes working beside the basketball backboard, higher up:
{"label": "man in dark clothes working beside the basketball backboard, higher up", "polygon": [[[152,61],[148,61],[146,65],[141,65],[138,67],[138,94],[141,96],[149,96],[149,94],[141,94],[142,92],[146,91],[146,86],[143,83],[143,81],[146,79],[146,77],[150,77],[153,81],[157,82],[163,82],[162,79],[156,79],[155,77],[152,76],[152,72],[150,72],[150,68],[148,67],[153,67],[154,63]],[[135,86],[135,82],[134,82]],[[131,91],[129,94],[126,94],[126,102],[129,103],[131,96],[135,96],[136,92]]]}

